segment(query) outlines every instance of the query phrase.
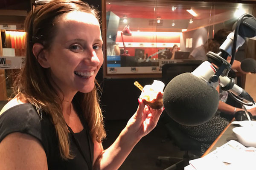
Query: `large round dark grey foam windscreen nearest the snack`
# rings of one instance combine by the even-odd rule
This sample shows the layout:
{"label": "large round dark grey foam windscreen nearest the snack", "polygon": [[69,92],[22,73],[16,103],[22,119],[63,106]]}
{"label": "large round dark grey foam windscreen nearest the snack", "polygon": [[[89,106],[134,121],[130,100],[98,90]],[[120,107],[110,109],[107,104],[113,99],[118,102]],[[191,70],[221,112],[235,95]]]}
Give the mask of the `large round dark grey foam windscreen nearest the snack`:
{"label": "large round dark grey foam windscreen nearest the snack", "polygon": [[207,122],[218,109],[218,91],[191,73],[174,77],[163,93],[166,113],[181,125]]}

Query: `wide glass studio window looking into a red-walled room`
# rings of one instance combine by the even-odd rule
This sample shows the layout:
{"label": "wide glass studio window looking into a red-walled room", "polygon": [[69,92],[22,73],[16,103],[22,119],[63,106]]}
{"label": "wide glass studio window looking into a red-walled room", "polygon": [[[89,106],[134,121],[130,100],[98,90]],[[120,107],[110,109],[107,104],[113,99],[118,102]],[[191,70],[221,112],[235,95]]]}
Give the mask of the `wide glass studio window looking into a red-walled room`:
{"label": "wide glass studio window looking into a red-walled room", "polygon": [[225,40],[252,9],[241,3],[107,0],[105,75],[161,74],[165,63],[206,60],[221,45],[215,33],[222,31],[218,36]]}

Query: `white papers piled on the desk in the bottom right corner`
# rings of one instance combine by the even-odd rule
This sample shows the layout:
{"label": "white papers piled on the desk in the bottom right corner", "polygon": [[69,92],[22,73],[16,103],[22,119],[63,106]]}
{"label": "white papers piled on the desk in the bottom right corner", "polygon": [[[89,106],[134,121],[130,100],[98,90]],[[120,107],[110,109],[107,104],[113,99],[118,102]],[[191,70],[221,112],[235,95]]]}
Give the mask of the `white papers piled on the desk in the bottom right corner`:
{"label": "white papers piled on the desk in the bottom right corner", "polygon": [[184,170],[255,170],[256,148],[230,140],[208,155],[189,161]]}

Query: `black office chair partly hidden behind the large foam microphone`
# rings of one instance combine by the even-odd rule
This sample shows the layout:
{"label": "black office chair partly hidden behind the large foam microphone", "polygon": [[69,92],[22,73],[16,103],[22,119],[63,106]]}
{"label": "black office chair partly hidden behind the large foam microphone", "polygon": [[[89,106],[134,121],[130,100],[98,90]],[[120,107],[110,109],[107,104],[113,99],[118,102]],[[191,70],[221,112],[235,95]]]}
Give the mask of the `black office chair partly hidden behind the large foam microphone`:
{"label": "black office chair partly hidden behind the large foam microphone", "polygon": [[[192,72],[201,64],[201,61],[194,62],[183,62],[183,63],[169,63],[165,64],[162,67],[162,81],[165,85],[169,83],[171,79],[175,76],[185,73]],[[165,127],[167,130],[168,137],[172,139],[173,144],[179,147],[181,151],[185,151],[183,158],[170,157],[170,156],[158,156],[156,165],[160,166],[162,160],[166,161],[177,161],[177,163],[172,164],[170,167],[167,167],[165,170],[175,170],[180,164],[184,161],[188,162],[190,159],[195,159],[200,157],[201,144],[194,139],[189,138],[184,132],[179,129],[179,125],[171,117],[167,115],[165,111],[162,113],[163,120],[166,121]],[[194,152],[195,151],[195,152]],[[189,152],[194,154],[189,154]]]}

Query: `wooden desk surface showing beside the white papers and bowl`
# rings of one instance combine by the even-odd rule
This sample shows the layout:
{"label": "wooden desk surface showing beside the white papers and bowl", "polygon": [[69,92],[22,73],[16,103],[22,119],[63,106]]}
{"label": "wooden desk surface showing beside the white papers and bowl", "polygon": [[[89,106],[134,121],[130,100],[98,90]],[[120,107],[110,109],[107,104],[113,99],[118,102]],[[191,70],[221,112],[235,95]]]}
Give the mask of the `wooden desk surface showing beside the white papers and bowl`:
{"label": "wooden desk surface showing beside the white papers and bowl", "polygon": [[208,153],[212,152],[216,149],[216,147],[220,147],[223,144],[227,143],[230,140],[236,140],[237,137],[235,133],[233,133],[233,128],[237,127],[239,125],[231,124],[231,122],[227,125],[227,127],[221,132],[221,134],[218,136],[217,139],[212,143],[212,145],[207,149],[207,151],[204,153],[204,156],[206,156]]}

